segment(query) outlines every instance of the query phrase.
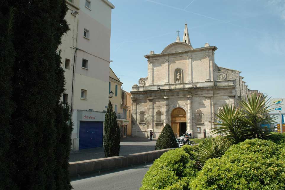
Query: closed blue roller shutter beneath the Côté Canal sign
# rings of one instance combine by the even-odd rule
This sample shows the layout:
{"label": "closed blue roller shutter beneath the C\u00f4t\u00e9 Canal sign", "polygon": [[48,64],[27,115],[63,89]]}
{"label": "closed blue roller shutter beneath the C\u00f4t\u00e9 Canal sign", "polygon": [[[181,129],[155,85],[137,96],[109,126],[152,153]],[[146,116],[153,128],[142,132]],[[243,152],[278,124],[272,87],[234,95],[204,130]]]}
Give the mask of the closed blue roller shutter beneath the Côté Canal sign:
{"label": "closed blue roller shutter beneath the C\u00f4t\u00e9 Canal sign", "polygon": [[103,122],[80,121],[79,150],[103,146]]}

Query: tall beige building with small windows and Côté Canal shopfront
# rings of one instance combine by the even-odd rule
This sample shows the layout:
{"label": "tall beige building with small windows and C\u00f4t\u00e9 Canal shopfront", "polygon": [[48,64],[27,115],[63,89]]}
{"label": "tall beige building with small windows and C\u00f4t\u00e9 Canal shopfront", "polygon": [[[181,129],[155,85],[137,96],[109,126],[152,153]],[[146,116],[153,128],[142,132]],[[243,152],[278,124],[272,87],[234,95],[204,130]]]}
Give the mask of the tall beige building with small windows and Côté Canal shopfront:
{"label": "tall beige building with small windows and C\u00f4t\u00e9 Canal shopfront", "polygon": [[[108,105],[111,11],[108,0],[66,0],[70,31],[62,38],[66,85],[74,123],[72,150],[102,147]],[[99,44],[99,45],[98,45]]]}

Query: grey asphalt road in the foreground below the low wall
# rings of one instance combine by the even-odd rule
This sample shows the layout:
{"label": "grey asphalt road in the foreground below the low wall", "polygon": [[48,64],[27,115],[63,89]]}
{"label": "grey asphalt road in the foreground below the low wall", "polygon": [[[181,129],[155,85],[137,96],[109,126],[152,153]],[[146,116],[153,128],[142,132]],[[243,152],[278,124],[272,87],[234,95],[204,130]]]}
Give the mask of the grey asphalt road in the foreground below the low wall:
{"label": "grey asphalt road in the foreground below the low wall", "polygon": [[127,170],[98,175],[71,182],[74,190],[136,190],[152,164],[140,165]]}

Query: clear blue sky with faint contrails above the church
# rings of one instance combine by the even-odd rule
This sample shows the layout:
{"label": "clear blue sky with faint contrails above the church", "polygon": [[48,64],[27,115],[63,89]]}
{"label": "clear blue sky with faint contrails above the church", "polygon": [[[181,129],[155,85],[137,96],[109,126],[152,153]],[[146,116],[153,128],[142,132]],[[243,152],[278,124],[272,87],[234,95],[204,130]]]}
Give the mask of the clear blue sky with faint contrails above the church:
{"label": "clear blue sky with faint contrails above the church", "polygon": [[193,48],[218,47],[215,63],[241,71],[248,88],[285,97],[285,0],[111,0],[110,67],[131,91],[147,76],[150,51],[182,40],[187,20]]}

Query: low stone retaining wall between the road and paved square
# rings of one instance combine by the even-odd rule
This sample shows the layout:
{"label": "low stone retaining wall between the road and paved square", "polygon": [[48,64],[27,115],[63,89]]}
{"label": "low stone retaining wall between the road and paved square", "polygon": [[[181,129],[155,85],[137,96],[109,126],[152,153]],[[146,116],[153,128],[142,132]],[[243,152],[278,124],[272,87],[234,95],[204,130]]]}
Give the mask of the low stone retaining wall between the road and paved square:
{"label": "low stone retaining wall between the road and paved square", "polygon": [[117,170],[118,168],[133,166],[134,164],[153,162],[163,153],[171,149],[174,148],[135,153],[128,156],[113,156],[109,158],[70,162],[69,173],[72,178],[80,178],[80,175],[82,176],[91,173],[100,173],[106,170]]}

